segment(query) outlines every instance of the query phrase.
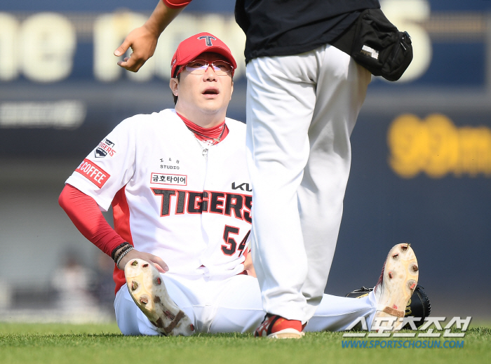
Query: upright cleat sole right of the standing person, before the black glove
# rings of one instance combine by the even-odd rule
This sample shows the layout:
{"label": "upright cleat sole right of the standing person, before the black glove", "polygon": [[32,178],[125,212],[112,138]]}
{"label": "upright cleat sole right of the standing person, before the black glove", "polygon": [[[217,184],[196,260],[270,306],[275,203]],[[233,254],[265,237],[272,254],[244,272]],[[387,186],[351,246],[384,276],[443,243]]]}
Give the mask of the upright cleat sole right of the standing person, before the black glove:
{"label": "upright cleat sole right of the standing person, before the black glove", "polygon": [[[396,317],[392,323],[395,330],[403,321],[405,308],[415,291],[419,268],[415,252],[409,244],[397,244],[389,251],[382,267],[379,281],[375,285],[377,312],[373,319],[372,328],[377,318]],[[390,325],[388,321],[379,320],[379,325]]]}

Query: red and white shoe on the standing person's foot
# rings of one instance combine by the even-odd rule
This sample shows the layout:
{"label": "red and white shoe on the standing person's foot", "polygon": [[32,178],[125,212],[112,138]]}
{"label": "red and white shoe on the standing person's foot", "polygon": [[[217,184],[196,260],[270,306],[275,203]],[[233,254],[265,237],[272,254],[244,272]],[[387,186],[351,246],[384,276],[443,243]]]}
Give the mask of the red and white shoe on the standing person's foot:
{"label": "red and white shoe on the standing person's foot", "polygon": [[264,316],[259,328],[254,332],[255,337],[269,337],[270,339],[300,339],[304,336],[302,322],[287,320],[278,315]]}

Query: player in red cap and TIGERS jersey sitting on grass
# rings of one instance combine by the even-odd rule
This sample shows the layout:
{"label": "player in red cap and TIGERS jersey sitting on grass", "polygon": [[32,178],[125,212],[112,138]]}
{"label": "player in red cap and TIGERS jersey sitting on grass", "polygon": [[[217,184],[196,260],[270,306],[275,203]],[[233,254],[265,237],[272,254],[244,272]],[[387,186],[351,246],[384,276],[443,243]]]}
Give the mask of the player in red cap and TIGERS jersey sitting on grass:
{"label": "player in red cap and TIGERS jersey sitting on grass", "polygon": [[[175,109],[122,121],[60,195],[83,236],[116,263],[114,309],[123,335],[253,332],[263,321],[247,254],[253,186],[245,125],[225,116],[235,68],[216,36],[182,41],[171,64]],[[100,212],[109,206],[114,229]],[[368,327],[376,316],[401,320],[417,270],[410,246],[396,245],[373,292],[323,295],[302,330],[344,330],[361,316]],[[264,336],[289,337],[283,320]]]}

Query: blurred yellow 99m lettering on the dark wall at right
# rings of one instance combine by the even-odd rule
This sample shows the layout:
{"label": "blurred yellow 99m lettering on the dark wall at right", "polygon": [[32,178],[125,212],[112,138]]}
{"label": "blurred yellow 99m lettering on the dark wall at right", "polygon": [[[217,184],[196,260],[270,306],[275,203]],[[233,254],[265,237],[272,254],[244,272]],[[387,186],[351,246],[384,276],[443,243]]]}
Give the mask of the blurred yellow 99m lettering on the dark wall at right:
{"label": "blurred yellow 99m lettering on the dark wall at right", "polygon": [[485,126],[457,128],[442,114],[424,120],[404,114],[392,122],[387,142],[389,166],[403,178],[422,172],[432,178],[491,177],[491,130]]}

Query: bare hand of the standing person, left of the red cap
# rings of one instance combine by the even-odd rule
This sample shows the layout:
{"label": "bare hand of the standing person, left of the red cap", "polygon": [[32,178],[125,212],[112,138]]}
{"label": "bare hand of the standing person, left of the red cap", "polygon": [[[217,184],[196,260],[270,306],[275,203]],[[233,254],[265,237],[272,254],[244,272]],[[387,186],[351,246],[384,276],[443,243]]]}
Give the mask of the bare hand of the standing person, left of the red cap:
{"label": "bare hand of the standing person, left of the red cap", "polygon": [[144,62],[154,55],[155,48],[157,46],[157,40],[159,39],[159,34],[155,34],[150,31],[145,25],[142,27],[133,29],[126,39],[123,41],[121,46],[114,50],[114,55],[120,57],[128,48],[133,50],[129,58],[120,60],[118,65],[124,69],[128,69],[131,72],[137,72]]}

